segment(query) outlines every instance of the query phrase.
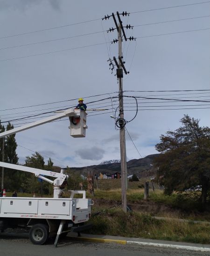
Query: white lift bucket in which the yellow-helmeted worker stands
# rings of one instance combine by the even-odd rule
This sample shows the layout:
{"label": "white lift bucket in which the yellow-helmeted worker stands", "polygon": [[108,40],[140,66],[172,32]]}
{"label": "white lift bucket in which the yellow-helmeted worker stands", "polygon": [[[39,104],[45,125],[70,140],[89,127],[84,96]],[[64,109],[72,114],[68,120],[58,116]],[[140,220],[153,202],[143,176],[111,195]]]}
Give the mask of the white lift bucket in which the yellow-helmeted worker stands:
{"label": "white lift bucket in which the yellow-helmeted worker stands", "polygon": [[70,135],[74,138],[85,137],[86,129],[86,116],[87,113],[83,110],[74,110],[76,115],[69,117],[70,119]]}

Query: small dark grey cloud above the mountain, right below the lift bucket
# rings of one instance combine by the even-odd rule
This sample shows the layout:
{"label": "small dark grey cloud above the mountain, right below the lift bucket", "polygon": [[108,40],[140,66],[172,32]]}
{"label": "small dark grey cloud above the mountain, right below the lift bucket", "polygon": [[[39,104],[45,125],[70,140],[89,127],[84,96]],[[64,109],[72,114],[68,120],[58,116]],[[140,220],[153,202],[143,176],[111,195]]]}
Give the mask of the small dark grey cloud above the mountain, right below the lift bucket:
{"label": "small dark grey cloud above the mountain, right below the lift bucket", "polygon": [[83,148],[76,151],[82,158],[87,160],[100,160],[105,154],[105,150],[99,147]]}

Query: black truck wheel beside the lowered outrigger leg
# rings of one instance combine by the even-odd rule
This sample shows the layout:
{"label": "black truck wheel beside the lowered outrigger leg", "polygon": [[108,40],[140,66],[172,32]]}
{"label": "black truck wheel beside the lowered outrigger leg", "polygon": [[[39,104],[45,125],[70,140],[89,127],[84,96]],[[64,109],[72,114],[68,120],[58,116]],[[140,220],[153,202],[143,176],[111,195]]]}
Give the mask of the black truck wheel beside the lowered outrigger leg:
{"label": "black truck wheel beside the lowered outrigger leg", "polygon": [[49,227],[44,224],[35,224],[29,232],[29,239],[33,244],[44,244],[49,237]]}

